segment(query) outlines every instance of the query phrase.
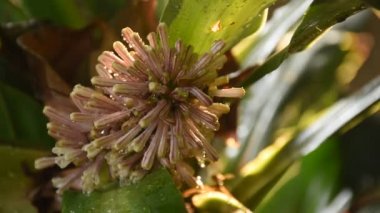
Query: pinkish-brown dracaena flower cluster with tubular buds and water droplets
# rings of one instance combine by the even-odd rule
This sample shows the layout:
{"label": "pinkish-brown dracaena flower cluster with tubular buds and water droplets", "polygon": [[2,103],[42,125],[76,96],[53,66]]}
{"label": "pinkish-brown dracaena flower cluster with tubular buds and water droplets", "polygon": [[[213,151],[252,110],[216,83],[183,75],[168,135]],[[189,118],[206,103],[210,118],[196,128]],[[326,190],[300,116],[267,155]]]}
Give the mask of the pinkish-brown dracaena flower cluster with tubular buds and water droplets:
{"label": "pinkish-brown dracaena flower cluster with tubular buds and water droplets", "polygon": [[[188,185],[195,185],[190,158],[217,160],[210,141],[228,104],[214,97],[239,98],[242,88],[228,83],[218,70],[226,61],[223,42],[198,56],[180,40],[169,44],[165,24],[148,35],[148,44],[130,28],[122,42],[103,52],[94,88],[81,85],[70,94],[71,107],[46,106],[49,134],[57,142],[52,157],[36,168],[68,168],[53,184],[62,191],[80,186],[92,191],[106,168],[122,183],[136,181],[160,165]],[[67,105],[67,104],[66,104]]]}

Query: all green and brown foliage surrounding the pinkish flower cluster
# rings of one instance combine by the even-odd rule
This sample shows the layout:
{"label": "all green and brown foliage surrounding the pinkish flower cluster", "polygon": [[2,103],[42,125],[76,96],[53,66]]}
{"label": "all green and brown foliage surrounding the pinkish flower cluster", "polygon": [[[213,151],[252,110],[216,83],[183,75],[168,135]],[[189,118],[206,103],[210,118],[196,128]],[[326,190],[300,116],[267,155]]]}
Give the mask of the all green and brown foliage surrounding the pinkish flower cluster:
{"label": "all green and brown foliage surrounding the pinkish flower cluster", "polygon": [[[184,212],[185,203],[198,212],[379,212],[376,7],[376,0],[0,0],[0,212]],[[221,121],[220,160],[198,171],[205,186],[182,189],[182,199],[159,170],[136,185],[57,198],[49,179],[58,169],[31,165],[54,144],[43,105],[89,85],[97,56],[123,27],[145,37],[160,20],[171,42],[181,38],[198,53],[223,39],[229,60],[221,72],[247,91]]]}

